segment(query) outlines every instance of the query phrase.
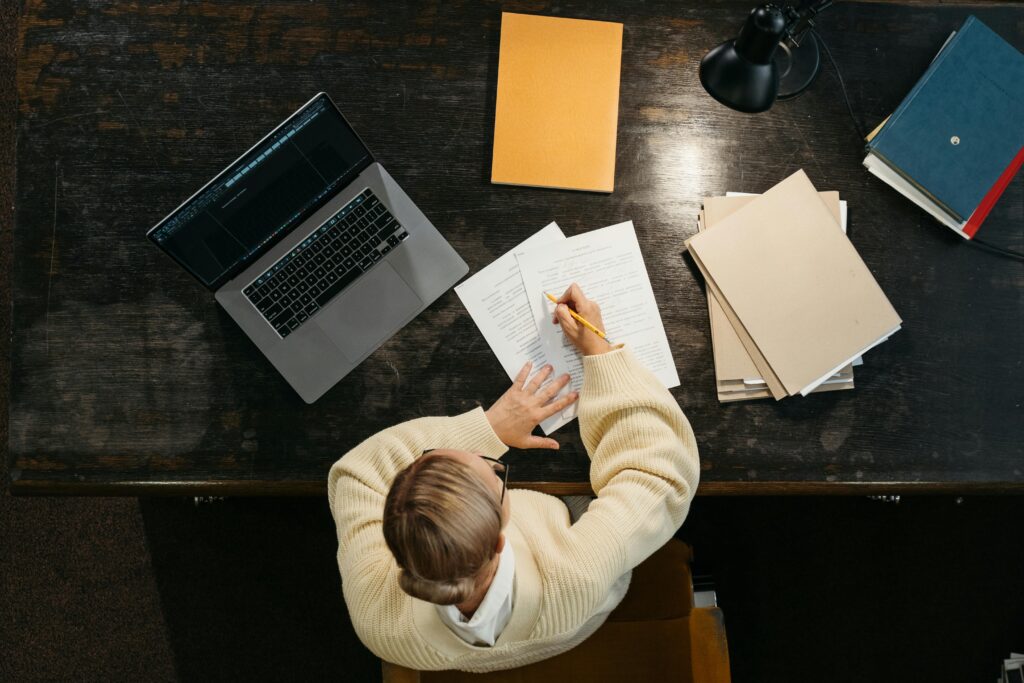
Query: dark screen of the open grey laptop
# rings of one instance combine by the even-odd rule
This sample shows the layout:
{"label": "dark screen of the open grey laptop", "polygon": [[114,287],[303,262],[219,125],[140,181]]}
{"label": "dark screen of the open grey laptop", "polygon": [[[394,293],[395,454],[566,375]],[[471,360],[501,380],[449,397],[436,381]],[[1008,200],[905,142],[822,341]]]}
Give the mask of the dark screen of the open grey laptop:
{"label": "dark screen of the open grey laptop", "polygon": [[372,163],[321,93],[150,230],[217,289],[312,215]]}

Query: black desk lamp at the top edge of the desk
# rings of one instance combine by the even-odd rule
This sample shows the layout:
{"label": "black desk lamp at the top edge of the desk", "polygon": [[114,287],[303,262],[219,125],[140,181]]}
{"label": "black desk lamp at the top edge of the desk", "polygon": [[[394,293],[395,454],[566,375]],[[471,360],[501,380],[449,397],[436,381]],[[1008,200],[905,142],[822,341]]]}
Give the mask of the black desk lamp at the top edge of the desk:
{"label": "black desk lamp at the top edge of the desk", "polygon": [[[700,85],[726,106],[756,114],[776,99],[796,97],[821,70],[814,17],[833,0],[801,0],[797,7],[756,7],[735,40],[700,60]],[[778,49],[781,48],[781,49]]]}

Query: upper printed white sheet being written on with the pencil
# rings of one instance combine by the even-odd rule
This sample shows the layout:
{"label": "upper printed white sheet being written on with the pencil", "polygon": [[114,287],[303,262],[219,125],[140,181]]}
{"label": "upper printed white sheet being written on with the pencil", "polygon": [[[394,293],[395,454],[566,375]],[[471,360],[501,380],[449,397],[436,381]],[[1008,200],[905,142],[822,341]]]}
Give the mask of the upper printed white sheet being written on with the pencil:
{"label": "upper printed white sheet being written on with the pencil", "polygon": [[[572,283],[601,305],[604,333],[612,343],[626,343],[667,388],[679,386],[676,362],[632,221],[513,251],[548,361],[556,376],[568,373],[572,378],[566,391],[582,388],[583,358],[562,335],[561,326],[552,324],[555,304],[545,293],[559,297]],[[573,417],[574,411],[571,415],[566,411],[560,420],[553,419],[551,429]],[[542,426],[548,432],[548,427]]]}

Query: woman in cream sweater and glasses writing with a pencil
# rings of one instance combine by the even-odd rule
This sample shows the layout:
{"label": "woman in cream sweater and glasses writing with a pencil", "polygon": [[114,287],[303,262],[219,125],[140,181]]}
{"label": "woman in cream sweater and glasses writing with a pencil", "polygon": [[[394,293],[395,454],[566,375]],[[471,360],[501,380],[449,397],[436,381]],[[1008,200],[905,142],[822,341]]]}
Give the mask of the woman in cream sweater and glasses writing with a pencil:
{"label": "woman in cream sweater and glasses writing with a pencil", "polygon": [[356,633],[418,670],[486,672],[570,649],[604,623],[630,572],[686,517],[699,474],[693,432],[660,382],[603,329],[572,285],[554,323],[584,355],[580,432],[597,495],[565,504],[506,490],[508,446],[557,449],[534,428],[577,400],[530,367],[486,412],[422,418],[367,439],[331,468],[338,566]]}

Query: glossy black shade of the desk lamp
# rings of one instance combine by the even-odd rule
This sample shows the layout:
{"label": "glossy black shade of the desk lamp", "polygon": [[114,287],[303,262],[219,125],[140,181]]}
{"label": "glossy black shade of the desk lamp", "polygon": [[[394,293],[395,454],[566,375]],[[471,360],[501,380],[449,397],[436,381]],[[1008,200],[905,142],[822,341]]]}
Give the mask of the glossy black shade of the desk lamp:
{"label": "glossy black shade of the desk lamp", "polygon": [[778,94],[773,57],[785,16],[772,4],[756,7],[735,40],[712,49],[700,60],[700,85],[726,106],[748,114],[771,109]]}

